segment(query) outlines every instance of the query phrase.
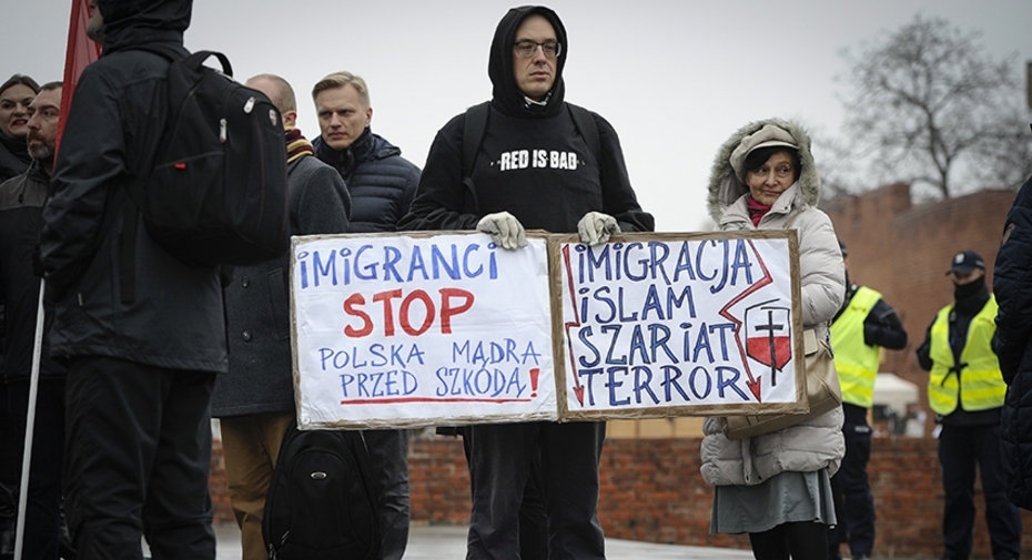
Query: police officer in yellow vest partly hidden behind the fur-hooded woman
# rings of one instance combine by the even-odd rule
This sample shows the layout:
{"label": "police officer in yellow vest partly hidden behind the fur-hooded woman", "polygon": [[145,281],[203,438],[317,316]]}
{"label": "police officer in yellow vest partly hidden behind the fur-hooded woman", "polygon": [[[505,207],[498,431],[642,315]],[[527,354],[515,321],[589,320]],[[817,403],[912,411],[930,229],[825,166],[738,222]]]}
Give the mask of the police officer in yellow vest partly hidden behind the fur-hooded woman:
{"label": "police officer in yellow vest partly hidden behind the fur-hooded woman", "polygon": [[867,476],[871,458],[871,427],[867,413],[874,399],[874,378],[881,348],[907,346],[907,330],[881,294],[849,282],[849,252],[840,241],[846,261],[846,302],[831,324],[834,367],[842,386],[846,457],[831,478],[838,525],[829,529],[828,558],[841,559],[839,546],[849,543],[853,560],[867,560],[874,547],[874,498]]}

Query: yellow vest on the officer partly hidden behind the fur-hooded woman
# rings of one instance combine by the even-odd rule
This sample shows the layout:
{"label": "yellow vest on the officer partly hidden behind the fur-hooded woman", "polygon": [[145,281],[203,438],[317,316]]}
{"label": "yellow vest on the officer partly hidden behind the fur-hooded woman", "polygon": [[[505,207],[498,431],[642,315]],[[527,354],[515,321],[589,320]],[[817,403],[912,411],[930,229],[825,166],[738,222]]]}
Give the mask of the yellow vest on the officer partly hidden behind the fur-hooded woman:
{"label": "yellow vest on the officer partly hidden behind the fur-hooded woman", "polygon": [[831,324],[831,348],[842,401],[863,408],[874,404],[874,379],[880,364],[879,347],[863,343],[863,322],[879,299],[881,294],[860,286],[849,306]]}

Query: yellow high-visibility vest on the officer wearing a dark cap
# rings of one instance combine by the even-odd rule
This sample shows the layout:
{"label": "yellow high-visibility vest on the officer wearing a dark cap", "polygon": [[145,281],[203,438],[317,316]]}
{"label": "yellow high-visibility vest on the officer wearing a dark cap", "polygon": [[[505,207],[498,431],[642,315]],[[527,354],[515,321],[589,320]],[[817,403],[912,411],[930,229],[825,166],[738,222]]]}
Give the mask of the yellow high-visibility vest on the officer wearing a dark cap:
{"label": "yellow high-visibility vest on the officer wearing a dark cap", "polygon": [[968,327],[968,340],[960,354],[960,371],[954,367],[953,350],[950,348],[950,313],[953,305],[939,312],[932,323],[929,339],[929,357],[932,370],[928,377],[928,401],[932,410],[948,415],[961,408],[968,411],[988,410],[1003,406],[1006,384],[1000,373],[1000,362],[992,352],[992,337],[996,332],[996,298],[990,296]]}

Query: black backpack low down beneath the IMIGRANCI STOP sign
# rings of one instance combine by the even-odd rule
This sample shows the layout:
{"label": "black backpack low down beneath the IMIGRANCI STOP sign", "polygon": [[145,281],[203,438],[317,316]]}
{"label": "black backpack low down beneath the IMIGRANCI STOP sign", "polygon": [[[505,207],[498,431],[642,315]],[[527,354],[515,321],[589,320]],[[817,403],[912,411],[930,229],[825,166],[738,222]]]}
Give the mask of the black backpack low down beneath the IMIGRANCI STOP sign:
{"label": "black backpack low down beneath the IMIGRANCI STOP sign", "polygon": [[292,426],[265,498],[270,560],[376,560],[378,496],[361,431]]}

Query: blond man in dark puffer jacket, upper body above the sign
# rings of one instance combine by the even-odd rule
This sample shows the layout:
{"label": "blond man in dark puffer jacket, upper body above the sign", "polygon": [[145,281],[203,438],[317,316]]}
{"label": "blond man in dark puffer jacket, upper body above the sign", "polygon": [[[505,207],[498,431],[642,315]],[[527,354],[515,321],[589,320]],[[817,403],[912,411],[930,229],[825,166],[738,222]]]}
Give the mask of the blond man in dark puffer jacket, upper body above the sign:
{"label": "blond man in dark puffer jacket, upper body above the sign", "polygon": [[313,142],[315,155],[347,183],[354,208],[351,232],[394,232],[408,213],[419,167],[402,151],[373,134],[370,89],[351,72],[334,72],[312,88],[322,135]]}

